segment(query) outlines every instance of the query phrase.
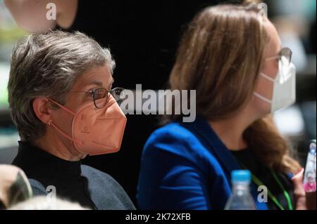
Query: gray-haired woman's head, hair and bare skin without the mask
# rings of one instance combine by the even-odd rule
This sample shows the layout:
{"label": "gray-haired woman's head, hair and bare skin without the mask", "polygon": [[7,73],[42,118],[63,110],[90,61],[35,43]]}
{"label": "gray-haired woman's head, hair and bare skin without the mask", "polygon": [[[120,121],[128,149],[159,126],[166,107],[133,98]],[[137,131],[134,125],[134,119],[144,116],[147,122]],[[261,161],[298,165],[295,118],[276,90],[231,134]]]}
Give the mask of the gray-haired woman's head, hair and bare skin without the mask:
{"label": "gray-haired woman's head, hair and bare skin without the mask", "polygon": [[114,66],[110,51],[80,32],[50,31],[19,41],[11,58],[8,100],[21,140],[35,143],[57,135],[77,153],[71,140],[46,125],[54,121],[71,136],[74,115],[49,99],[76,113],[94,102],[89,91],[111,89]]}

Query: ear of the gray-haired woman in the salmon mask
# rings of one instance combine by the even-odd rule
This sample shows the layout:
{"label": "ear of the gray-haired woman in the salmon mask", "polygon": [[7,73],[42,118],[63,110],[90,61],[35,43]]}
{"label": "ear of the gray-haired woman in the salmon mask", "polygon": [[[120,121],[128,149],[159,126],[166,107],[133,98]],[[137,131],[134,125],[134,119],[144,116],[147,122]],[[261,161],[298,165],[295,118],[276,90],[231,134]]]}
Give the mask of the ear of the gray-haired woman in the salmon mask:
{"label": "ear of the gray-haired woman in the salmon mask", "polygon": [[49,100],[47,98],[36,98],[33,100],[33,111],[44,124],[47,124],[51,120]]}

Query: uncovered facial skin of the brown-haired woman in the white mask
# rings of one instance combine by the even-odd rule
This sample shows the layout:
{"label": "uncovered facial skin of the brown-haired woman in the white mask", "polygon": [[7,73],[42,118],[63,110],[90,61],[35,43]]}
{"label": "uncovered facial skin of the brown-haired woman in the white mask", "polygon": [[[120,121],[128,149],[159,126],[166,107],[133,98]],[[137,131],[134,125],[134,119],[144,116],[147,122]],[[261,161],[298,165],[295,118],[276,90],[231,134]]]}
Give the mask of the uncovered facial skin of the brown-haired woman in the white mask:
{"label": "uncovered facial skin of the brown-haired woman in the white mask", "polygon": [[[266,22],[266,30],[268,32],[269,42],[266,45],[266,49],[264,51],[264,59],[278,55],[282,48],[278,31],[276,30],[272,22]],[[266,74],[268,77],[275,79],[276,75],[278,74],[278,59],[266,60],[263,63],[263,69],[261,72],[263,74]],[[254,92],[259,93],[265,98],[272,99],[273,86],[274,84],[272,81],[259,75],[259,80],[256,84]],[[256,108],[256,110],[259,111],[259,114],[262,117],[271,112],[271,104],[259,98],[254,97],[253,105]]]}

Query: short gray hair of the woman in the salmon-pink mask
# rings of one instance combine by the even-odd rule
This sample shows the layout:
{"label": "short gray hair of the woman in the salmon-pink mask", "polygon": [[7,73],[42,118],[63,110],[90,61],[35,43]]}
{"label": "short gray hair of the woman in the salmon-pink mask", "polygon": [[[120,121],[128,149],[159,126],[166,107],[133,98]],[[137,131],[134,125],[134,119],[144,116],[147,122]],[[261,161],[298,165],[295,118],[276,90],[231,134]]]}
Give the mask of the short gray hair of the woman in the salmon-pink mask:
{"label": "short gray hair of the woman in the salmon-pink mask", "polygon": [[33,142],[45,133],[46,125],[33,110],[35,98],[64,104],[80,74],[105,64],[112,73],[110,51],[80,32],[49,31],[18,41],[11,56],[8,102],[21,140]]}

